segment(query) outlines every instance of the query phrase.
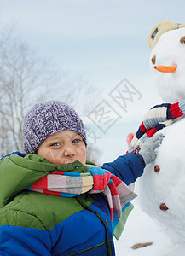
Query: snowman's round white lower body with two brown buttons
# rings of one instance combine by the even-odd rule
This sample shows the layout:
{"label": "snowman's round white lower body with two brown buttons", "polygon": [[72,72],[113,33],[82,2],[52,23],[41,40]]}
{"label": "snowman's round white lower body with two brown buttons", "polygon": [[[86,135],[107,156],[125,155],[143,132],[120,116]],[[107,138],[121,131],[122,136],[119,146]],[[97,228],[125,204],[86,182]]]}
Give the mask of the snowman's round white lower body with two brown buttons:
{"label": "snowman's round white lower body with two brown buttons", "polygon": [[[165,128],[158,156],[136,184],[142,210],[185,240],[185,119]],[[154,166],[159,165],[159,172]],[[168,209],[161,210],[165,203]]]}

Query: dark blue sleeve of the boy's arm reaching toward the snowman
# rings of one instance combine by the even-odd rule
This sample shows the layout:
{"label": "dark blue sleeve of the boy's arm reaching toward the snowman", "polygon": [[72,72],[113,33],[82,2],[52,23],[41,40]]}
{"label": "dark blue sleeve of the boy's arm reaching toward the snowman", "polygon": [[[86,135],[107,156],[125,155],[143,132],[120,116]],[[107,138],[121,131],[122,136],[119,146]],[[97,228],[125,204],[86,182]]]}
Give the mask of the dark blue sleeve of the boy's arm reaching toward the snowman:
{"label": "dark blue sleeve of the boy's arm reaching toward the snowman", "polygon": [[124,154],[119,156],[111,163],[105,163],[101,168],[112,172],[119,177],[125,184],[134,183],[140,177],[145,168],[145,162],[141,154]]}

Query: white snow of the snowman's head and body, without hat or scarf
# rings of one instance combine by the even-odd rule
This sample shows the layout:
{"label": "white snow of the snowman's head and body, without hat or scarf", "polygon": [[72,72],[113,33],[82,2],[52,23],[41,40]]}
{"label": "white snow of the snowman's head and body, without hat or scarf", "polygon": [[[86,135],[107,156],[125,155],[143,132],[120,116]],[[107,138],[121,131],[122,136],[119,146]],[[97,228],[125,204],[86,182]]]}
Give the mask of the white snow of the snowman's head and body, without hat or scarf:
{"label": "white snow of the snowman's head and body, without hat or scarf", "polygon": [[[185,28],[165,32],[151,53],[150,63],[159,95],[165,102],[185,99],[185,44],[180,40]],[[154,66],[176,65],[174,73],[162,73]],[[161,131],[159,131],[161,132]],[[168,126],[153,164],[146,167],[136,184],[142,210],[156,218],[179,240],[185,241],[185,119]],[[159,172],[154,166],[159,165]],[[160,209],[161,204],[168,208]]]}

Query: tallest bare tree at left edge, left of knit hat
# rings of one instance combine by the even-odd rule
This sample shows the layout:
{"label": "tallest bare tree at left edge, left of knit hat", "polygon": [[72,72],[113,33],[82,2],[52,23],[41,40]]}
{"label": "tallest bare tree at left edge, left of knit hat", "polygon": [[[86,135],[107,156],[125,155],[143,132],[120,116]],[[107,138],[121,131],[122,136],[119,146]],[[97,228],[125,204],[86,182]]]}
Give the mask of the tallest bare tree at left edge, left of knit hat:
{"label": "tallest bare tree at left edge, left of knit hat", "polygon": [[[55,75],[54,75],[55,73]],[[22,121],[28,108],[49,95],[60,73],[25,43],[8,38],[0,49],[1,154],[22,150]]]}

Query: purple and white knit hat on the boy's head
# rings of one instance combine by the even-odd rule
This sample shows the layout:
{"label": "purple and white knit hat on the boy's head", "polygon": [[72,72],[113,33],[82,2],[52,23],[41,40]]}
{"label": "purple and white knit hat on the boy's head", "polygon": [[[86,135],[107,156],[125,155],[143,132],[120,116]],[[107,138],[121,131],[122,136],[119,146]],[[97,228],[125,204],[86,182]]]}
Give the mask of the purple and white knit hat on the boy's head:
{"label": "purple and white knit hat on the boy's head", "polygon": [[35,154],[41,143],[57,131],[77,132],[84,140],[84,125],[78,113],[66,103],[58,101],[36,104],[23,121],[23,147],[25,154]]}

